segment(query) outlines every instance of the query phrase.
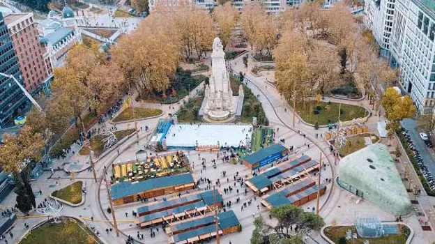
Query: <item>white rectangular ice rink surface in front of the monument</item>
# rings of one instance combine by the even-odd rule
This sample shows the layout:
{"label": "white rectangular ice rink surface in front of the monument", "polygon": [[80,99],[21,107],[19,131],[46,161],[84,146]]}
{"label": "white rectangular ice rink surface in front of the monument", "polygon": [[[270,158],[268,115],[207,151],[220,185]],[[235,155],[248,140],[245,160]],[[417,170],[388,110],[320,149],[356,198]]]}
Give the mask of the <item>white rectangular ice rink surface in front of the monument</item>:
{"label": "white rectangular ice rink surface in front of the monument", "polygon": [[251,142],[252,125],[171,125],[166,135],[167,146],[240,146]]}

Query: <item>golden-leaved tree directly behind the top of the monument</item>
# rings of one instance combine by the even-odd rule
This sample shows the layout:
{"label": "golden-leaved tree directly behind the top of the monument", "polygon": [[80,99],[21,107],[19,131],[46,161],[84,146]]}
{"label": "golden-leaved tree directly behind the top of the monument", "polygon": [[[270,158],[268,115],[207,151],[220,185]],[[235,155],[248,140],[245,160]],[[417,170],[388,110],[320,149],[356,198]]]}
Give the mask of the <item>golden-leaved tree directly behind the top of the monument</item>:
{"label": "golden-leaved tree directly behind the top of the monument", "polygon": [[224,49],[227,47],[227,44],[229,44],[231,32],[238,22],[238,16],[238,10],[231,6],[231,2],[227,2],[213,9],[213,18],[217,23],[217,33],[220,40],[222,40]]}

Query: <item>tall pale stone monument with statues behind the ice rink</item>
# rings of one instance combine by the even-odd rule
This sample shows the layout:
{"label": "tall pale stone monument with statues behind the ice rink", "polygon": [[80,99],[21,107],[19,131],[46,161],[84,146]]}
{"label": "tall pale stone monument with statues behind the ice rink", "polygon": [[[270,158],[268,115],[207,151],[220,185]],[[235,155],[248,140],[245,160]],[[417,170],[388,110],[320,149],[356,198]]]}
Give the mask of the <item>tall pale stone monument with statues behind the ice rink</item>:
{"label": "tall pale stone monument with statues behind the ice rink", "polygon": [[239,87],[238,96],[233,96],[229,75],[225,67],[225,52],[220,38],[213,41],[211,54],[211,77],[206,86],[205,98],[200,113],[208,119],[222,121],[241,114],[243,106],[243,86]]}

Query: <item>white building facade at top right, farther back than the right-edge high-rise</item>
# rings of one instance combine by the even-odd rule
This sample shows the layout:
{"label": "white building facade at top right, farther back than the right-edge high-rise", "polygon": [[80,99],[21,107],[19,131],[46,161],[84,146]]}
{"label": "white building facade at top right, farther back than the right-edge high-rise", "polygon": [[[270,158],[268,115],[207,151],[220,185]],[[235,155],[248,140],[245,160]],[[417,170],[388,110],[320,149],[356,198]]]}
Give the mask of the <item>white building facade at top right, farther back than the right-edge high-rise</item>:
{"label": "white building facade at top right, farther back than the right-edge high-rise", "polygon": [[365,26],[372,29],[376,42],[381,46],[381,56],[390,55],[390,38],[397,0],[369,0],[365,6]]}

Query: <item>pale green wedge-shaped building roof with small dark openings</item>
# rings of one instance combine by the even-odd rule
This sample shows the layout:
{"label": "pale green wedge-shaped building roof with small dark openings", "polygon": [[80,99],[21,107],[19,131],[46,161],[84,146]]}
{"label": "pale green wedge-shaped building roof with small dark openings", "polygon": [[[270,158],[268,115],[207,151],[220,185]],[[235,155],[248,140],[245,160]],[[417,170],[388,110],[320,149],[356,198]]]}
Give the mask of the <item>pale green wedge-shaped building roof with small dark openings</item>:
{"label": "pale green wedge-shaped building roof with small dark openings", "polygon": [[[409,213],[411,201],[388,148],[372,144],[342,158],[339,185],[372,201],[390,213]],[[357,193],[358,195],[358,193]]]}

